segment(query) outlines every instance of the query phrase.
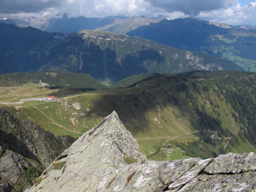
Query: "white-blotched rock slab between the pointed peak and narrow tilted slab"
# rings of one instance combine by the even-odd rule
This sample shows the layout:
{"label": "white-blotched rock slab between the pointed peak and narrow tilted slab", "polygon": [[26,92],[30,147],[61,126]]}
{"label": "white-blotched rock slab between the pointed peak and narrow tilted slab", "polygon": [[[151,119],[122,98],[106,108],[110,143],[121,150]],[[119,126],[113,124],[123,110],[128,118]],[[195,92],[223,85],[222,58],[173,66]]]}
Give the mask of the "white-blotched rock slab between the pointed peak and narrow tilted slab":
{"label": "white-blotched rock slab between the pointed peak and narrow tilted slab", "polygon": [[[144,164],[131,164],[116,170],[110,176],[108,192],[162,192],[168,183],[176,180],[181,174],[193,166],[197,160],[146,161]],[[107,188],[107,189],[106,189]]]}

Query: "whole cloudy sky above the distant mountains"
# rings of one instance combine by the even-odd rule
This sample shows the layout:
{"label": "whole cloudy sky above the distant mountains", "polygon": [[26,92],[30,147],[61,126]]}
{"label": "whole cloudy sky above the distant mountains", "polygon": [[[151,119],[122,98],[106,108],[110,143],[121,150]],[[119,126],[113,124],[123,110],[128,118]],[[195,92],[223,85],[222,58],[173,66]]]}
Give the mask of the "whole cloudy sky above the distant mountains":
{"label": "whole cloudy sky above the distant mountains", "polygon": [[0,17],[60,13],[67,13],[70,18],[161,14],[256,26],[256,0],[0,0]]}

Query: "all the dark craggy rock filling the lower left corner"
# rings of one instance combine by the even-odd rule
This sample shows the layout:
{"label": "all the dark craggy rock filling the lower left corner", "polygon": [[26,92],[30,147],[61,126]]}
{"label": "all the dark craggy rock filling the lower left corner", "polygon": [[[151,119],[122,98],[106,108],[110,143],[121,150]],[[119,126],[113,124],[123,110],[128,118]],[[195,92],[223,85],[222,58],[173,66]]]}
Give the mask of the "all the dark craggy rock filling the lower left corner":
{"label": "all the dark craggy rock filling the lower left corner", "polygon": [[76,139],[54,136],[0,109],[0,192],[24,191]]}

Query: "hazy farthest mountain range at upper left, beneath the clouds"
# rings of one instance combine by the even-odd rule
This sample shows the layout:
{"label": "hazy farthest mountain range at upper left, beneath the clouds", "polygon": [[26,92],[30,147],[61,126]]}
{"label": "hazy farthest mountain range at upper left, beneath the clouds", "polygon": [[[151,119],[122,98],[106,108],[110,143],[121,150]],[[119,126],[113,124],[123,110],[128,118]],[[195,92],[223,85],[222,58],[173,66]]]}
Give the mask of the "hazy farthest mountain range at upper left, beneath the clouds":
{"label": "hazy farthest mountain range at upper left, beneath the clouds", "polygon": [[47,32],[70,33],[81,30],[98,30],[115,33],[126,33],[137,27],[159,22],[164,17],[148,18],[146,16],[108,16],[105,18],[86,18],[80,16],[77,18],[68,18],[67,14],[62,14],[57,18],[45,16],[37,17],[11,17],[0,20],[7,24],[15,24],[19,27],[32,26]]}

